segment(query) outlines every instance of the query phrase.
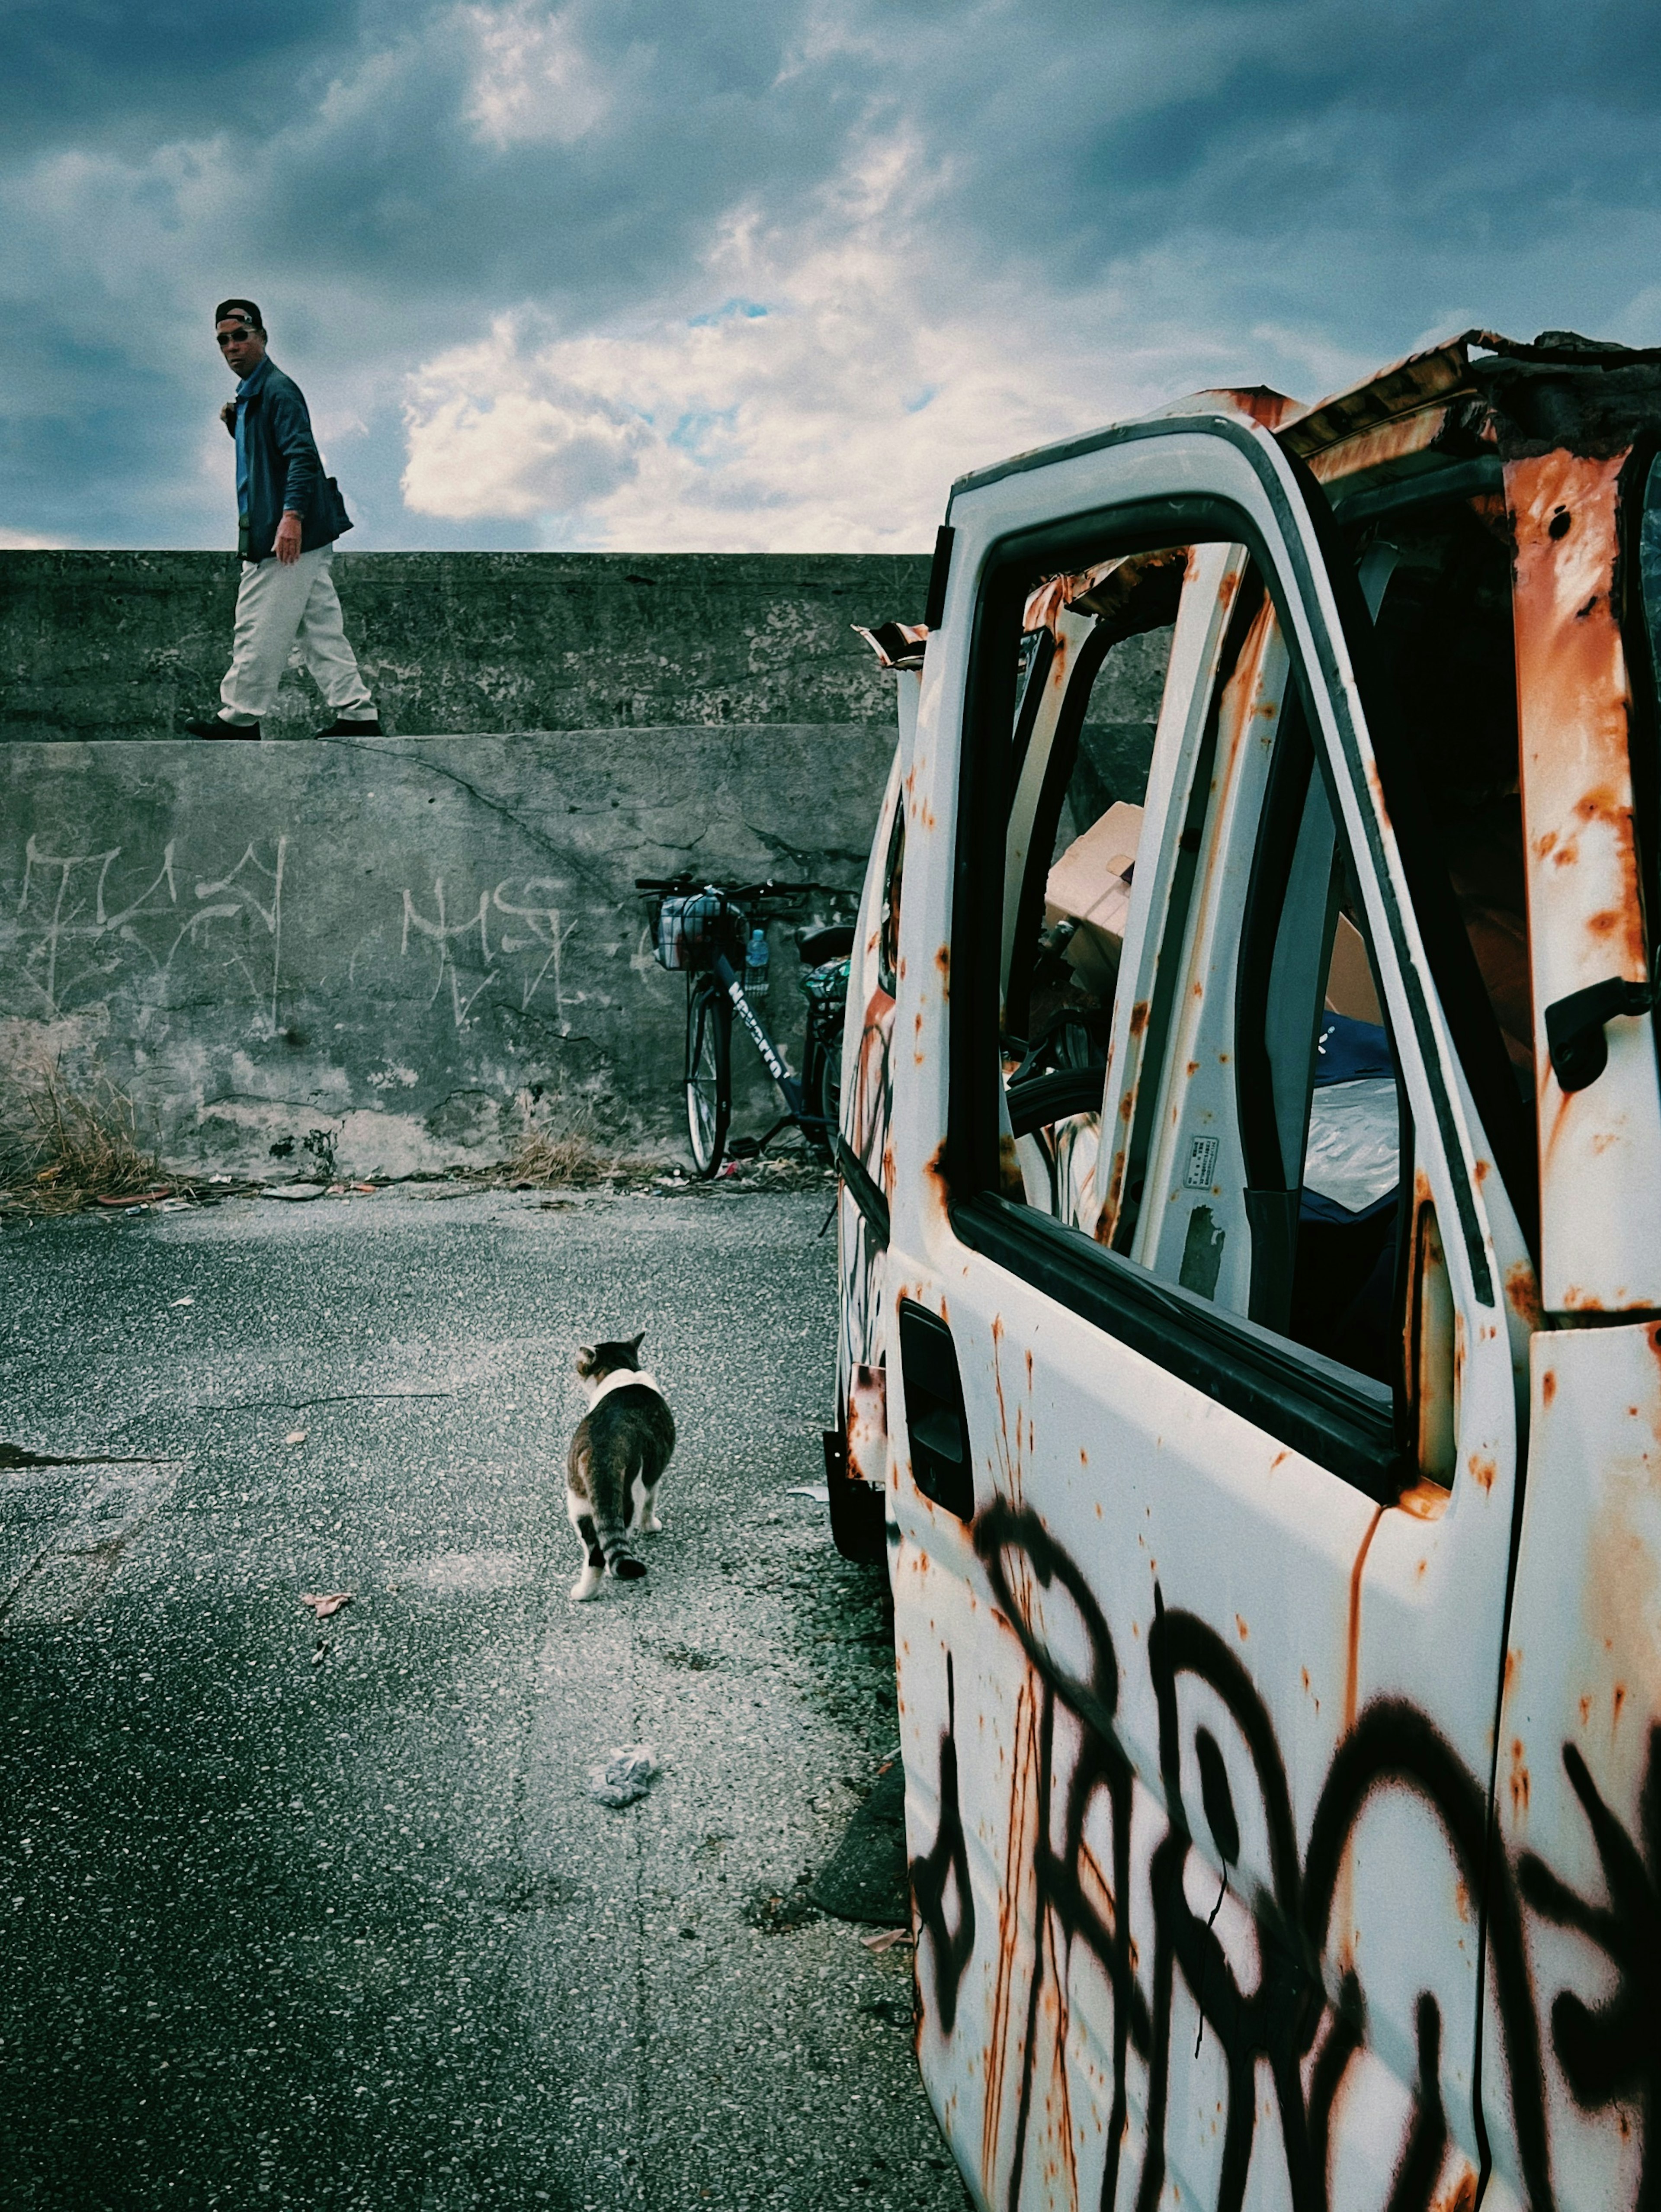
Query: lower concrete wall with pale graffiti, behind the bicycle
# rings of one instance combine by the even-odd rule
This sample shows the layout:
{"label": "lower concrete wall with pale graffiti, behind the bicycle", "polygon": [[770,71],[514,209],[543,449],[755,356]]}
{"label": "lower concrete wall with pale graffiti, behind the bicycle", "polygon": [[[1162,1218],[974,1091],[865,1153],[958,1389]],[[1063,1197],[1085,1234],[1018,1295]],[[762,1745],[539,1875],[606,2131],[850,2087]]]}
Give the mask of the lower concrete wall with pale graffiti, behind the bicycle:
{"label": "lower concrete wall with pale graffiti, behind the bicycle", "polygon": [[[498,1159],[529,1097],[610,1146],[672,1146],[683,987],[633,880],[856,891],[885,690],[882,719],[843,723],[0,745],[0,1062],[13,1084],[102,1071],[195,1170]],[[774,971],[794,1064],[781,936]],[[734,1060],[754,1126],[759,1068]]]}

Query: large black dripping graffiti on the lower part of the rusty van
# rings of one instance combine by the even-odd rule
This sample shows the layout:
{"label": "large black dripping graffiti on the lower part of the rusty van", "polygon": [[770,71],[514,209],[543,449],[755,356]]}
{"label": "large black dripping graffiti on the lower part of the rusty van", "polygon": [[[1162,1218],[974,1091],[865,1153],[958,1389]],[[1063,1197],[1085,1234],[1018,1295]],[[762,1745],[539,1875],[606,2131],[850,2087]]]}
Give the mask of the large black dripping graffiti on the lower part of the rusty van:
{"label": "large black dripping graffiti on the lower part of the rusty van", "polygon": [[[1586,1809],[1606,1874],[1608,1905],[1568,1889],[1539,1858],[1524,1854],[1508,1865],[1488,1849],[1486,1787],[1466,1770],[1424,1714],[1400,1699],[1365,1708],[1338,1745],[1316,1803],[1309,1840],[1300,1851],[1292,1790],[1276,1745],[1270,1710],[1239,1655],[1192,1613],[1166,1608],[1155,1590],[1155,1624],[1146,1639],[1146,1668],[1159,1714],[1159,1781],[1163,1832],[1148,1865],[1152,1927],[1130,1927],[1132,1898],[1132,1790],[1135,1767],[1117,1728],[1119,1657],[1108,1621],[1077,1564],[1053,1540],[1037,1513],[993,1504],[975,1522],[975,1551],[986,1568],[993,1604],[1026,1657],[1017,1697],[1011,1756],[1011,1832],[997,1927],[997,1986],[993,2037],[986,2051],[986,2106],[982,2172],[1002,2163],[1004,2097],[1013,2088],[1013,2150],[1006,2166],[1006,2203],[1022,2201],[1031,2159],[1033,2099],[1042,2079],[1042,1997],[1046,1980],[1064,2039],[1068,1978],[1082,1949],[1112,1993],[1110,2115],[1099,2203],[1119,2203],[1119,2168],[1128,2141],[1128,2068],[1146,2068],[1146,2130],[1141,2166],[1126,2203],[1155,2212],[1163,2201],[1168,2095],[1172,2070],[1172,1995],[1181,1975],[1201,2037],[1216,2037],[1223,2053],[1223,2146],[1216,2181],[1219,2212],[1239,2212],[1247,2188],[1254,2137],[1270,2110],[1278,2121],[1292,2205],[1320,2212],[1329,2192],[1329,2148],[1345,2075],[1367,2044],[1362,1975],[1347,1966],[1336,2002],[1320,1960],[1327,1951],[1334,1902],[1358,1823],[1382,1792],[1409,1792],[1438,1823],[1464,1891],[1482,1900],[1486,1960],[1500,2017],[1500,2064],[1508,2088],[1517,2163],[1535,2212],[1555,2203],[1546,2126],[1546,2084],[1539,2013],[1528,1971],[1524,1907],[1577,1929],[1603,1949],[1612,1969],[1610,1995],[1599,2008],[1559,1991],[1550,2004],[1550,2051],[1584,2110],[1619,2106],[1643,2130],[1637,2203],[1661,2201],[1661,2028],[1654,1991],[1661,1982],[1661,1730],[1650,1739],[1641,1827],[1634,1843],[1599,1798],[1579,1752],[1564,1750],[1568,1778]],[[1068,1646],[1079,1657],[1062,1663],[1033,1626],[1031,1590],[1042,1586],[1073,1615]],[[1230,1962],[1216,1933],[1219,1893],[1210,1916],[1188,1893],[1197,1871],[1194,1796],[1223,1863],[1230,1889],[1241,1849],[1241,1818],[1216,1739],[1197,1725],[1185,1745],[1179,1725],[1179,1683],[1203,1683],[1239,1736],[1258,1790],[1270,1843],[1270,1887],[1250,1900],[1258,1973],[1250,1986]],[[1068,1717],[1057,1728],[1057,1714]],[[955,1683],[947,1659],[947,1725],[940,1739],[940,1827],[927,1851],[911,1860],[918,1913],[918,1978],[924,2006],[951,2037],[962,1980],[975,1951],[975,1909],[969,1880],[969,1843],[958,1781]],[[1086,1827],[1106,1809],[1110,1865],[1101,1865]],[[1099,1827],[1097,1827],[1099,1832]],[[1203,1858],[1203,1854],[1201,1854]],[[1210,1858],[1203,1865],[1212,1865]],[[1212,1874],[1212,1880],[1216,1876]],[[1009,1909],[1004,1905],[1009,1900]],[[1020,1900],[1020,1907],[1017,1902]],[[1126,1909],[1121,1909],[1126,1907]],[[1028,1920],[1031,1913],[1031,1920]],[[1031,1947],[1024,2002],[1017,1991],[1020,1931]],[[1150,1938],[1150,1942],[1148,1942]],[[1022,2015],[1022,2017],[1017,2017]],[[1444,2183],[1451,2148],[1442,2104],[1442,2013],[1422,1991],[1413,2013],[1418,2079],[1413,2112],[1402,2139],[1387,2201],[1391,2212],[1429,2212]],[[1006,2079],[1009,2057],[1015,2057]],[[1064,2053],[1055,2081],[1066,2099]],[[1272,2104],[1258,2093],[1261,2070]],[[1055,2112],[1048,2115],[1055,2124]],[[1059,2115],[1059,2139],[1070,2159],[1073,2128]],[[1077,2177],[1075,2177],[1077,2179]],[[1471,2183],[1475,2174],[1469,2177]],[[1077,2188],[1073,2192],[1077,2201]],[[1380,2197],[1385,2201],[1385,2197]]]}

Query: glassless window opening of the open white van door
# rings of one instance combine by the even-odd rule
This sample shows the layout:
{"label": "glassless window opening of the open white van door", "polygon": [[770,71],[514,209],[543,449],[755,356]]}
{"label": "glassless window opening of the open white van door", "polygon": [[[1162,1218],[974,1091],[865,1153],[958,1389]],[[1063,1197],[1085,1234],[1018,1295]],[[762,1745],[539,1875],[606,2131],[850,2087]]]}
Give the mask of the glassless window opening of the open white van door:
{"label": "glassless window opening of the open white van door", "polygon": [[[1449,1407],[1420,1400],[1424,1378],[1446,1400],[1451,1312],[1276,591],[1245,546],[1161,544],[1028,575],[1006,617],[1004,951],[997,1033],[980,1029],[995,1188],[1077,1239],[1077,1261],[1046,1245],[1033,1265],[1077,1270],[1082,1310],[1101,1301],[1117,1334],[1393,1498],[1449,1473]],[[1179,608],[1210,646],[1183,655]],[[980,635],[993,650],[984,617]],[[1139,1068],[1117,1093],[1132,973]],[[980,1082],[953,1046],[953,1088]],[[1104,1274],[1108,1254],[1130,1272]]]}

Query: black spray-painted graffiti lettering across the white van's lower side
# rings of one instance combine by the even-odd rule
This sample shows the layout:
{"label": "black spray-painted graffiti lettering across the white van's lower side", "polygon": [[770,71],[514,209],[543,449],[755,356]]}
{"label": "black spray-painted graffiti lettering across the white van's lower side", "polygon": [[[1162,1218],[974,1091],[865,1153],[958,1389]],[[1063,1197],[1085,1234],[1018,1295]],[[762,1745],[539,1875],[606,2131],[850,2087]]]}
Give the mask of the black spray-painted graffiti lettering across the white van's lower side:
{"label": "black spray-painted graffiti lettering across the white van's lower side", "polygon": [[[1480,1900],[1486,1920],[1486,1958],[1495,2006],[1502,2022],[1504,2066],[1511,2088],[1513,2126],[1522,2179],[1531,2212],[1550,2212],[1550,2157],[1546,2143],[1546,2101],[1533,1991],[1524,1951],[1522,1900],[1517,1882],[1500,1851],[1488,1849],[1486,1792],[1464,1767],[1444,1739],[1415,1708],[1380,1699],[1369,1705],[1334,1754],[1320,1801],[1316,1805],[1307,1854],[1298,1854],[1292,1794],[1285,1763],[1274,1736],[1270,1712],[1252,1686],[1239,1657],[1214,1628],[1192,1613],[1168,1610],[1157,1597],[1157,1617],[1148,1637],[1148,1672],[1159,1708],[1159,1778],[1166,1801],[1166,1832],[1150,1863],[1152,1893],[1152,1960],[1143,1993],[1137,1973],[1137,1947],[1128,1911],[1117,1900],[1130,1898],[1130,1805],[1132,1763],[1126,1754],[1115,1714],[1119,1703],[1119,1661],[1112,1635],[1075,1562],[1053,1542],[1042,1520],[1006,1502],[997,1502],[975,1522],[975,1548],[986,1566],[993,1597],[1013,1626],[1040,1686],[1037,1756],[1033,1770],[1033,1865],[1035,1962],[1022,2042],[1022,2081],[1015,2117],[1015,2139],[1009,2163],[1009,2203],[1020,2203],[1031,2099],[1037,2068],[1040,1995],[1046,1953],[1055,1975],[1066,1982],[1073,1944],[1082,1942],[1099,1962],[1112,1989],[1112,2112],[1108,2119],[1108,2152],[1101,2177],[1101,2205],[1117,2203],[1119,2163],[1126,2139],[1126,2070],[1128,2053],[1148,2066],[1146,2150],[1135,2192],[1137,2212],[1155,2212],[1166,2183],[1166,2117],[1170,2090],[1170,2037],[1174,1975],[1199,2008],[1201,2031],[1214,2035],[1228,2073],[1223,2157],[1216,2185],[1219,2212],[1236,2212],[1243,2201],[1252,2159],[1256,2115],[1256,2068],[1267,2066],[1278,2106],[1281,2141],[1292,2185],[1294,2212],[1325,2212],[1327,2150],[1331,2115],[1345,2068],[1367,2039],[1367,2011],[1360,1980],[1345,1975],[1338,2002],[1327,2000],[1320,1958],[1349,1838],[1378,1792],[1404,1790],[1418,1796],[1442,1825],[1460,1880]],[[1055,1655],[1033,1630],[1031,1604],[1024,1593],[1033,1582],[1044,1590],[1066,1593],[1082,1628],[1088,1663],[1082,1677],[1057,1666]],[[1228,1953],[1214,1933],[1214,1918],[1197,1913],[1183,1891],[1188,1856],[1194,1849],[1188,1803],[1183,1796],[1183,1743],[1179,1728],[1177,1686],[1183,1677],[1205,1683],[1228,1710],[1245,1745],[1261,1794],[1261,1812],[1270,1845],[1270,1882],[1245,1902],[1258,1936],[1261,1973],[1256,1986],[1239,1986]],[[1070,1772],[1055,1772],[1055,1710],[1073,1717],[1079,1750]],[[1568,1754],[1577,1759],[1577,1754]],[[1194,1730],[1194,1767],[1205,1823],[1216,1856],[1234,1865],[1241,1849],[1241,1825],[1234,1809],[1228,1770],[1216,1741]],[[1584,1770],[1581,1770],[1584,1772]],[[1650,1867],[1657,1865],[1654,1840],[1661,1836],[1661,1783],[1646,1794],[1646,1840]],[[1570,1778],[1575,1767],[1570,1765]],[[1017,1783],[1020,1785],[1020,1783]],[[1579,1781],[1575,1781],[1579,1787]],[[1588,1790],[1581,1801],[1588,1803]],[[1055,1794],[1062,1794],[1059,1843],[1055,1834]],[[1086,1820],[1106,1796],[1108,1834],[1112,1838],[1110,1878],[1086,1845]],[[1654,1882],[1639,1865],[1619,1825],[1597,1805],[1588,1816],[1599,1834],[1599,1847],[1610,1867],[1610,1896],[1623,1909],[1623,1929],[1615,1916],[1590,1913],[1561,1885],[1546,1891],[1542,1874],[1524,1869],[1531,1902],[1535,1893],[1550,1896],[1542,1911],[1584,1927],[1599,1942],[1628,1949],[1661,1942],[1661,1916],[1654,1907]],[[973,1918],[969,1907],[969,1860],[958,1803],[955,1710],[949,1703],[947,1732],[940,1747],[940,1834],[927,1858],[911,1867],[918,1898],[920,1931],[929,1938],[936,2013],[942,2033],[951,2033],[962,1975],[973,1951]],[[1648,1834],[1654,1816],[1654,1834]],[[1619,1847],[1617,1840],[1619,1838]],[[1612,1856],[1610,1856],[1612,1854]],[[1626,1854],[1626,1856],[1621,1856]],[[947,1931],[942,1896],[947,1869],[958,1898],[958,1927]],[[1546,1878],[1550,1880],[1550,1878]],[[1617,1887],[1623,1885],[1623,1887]],[[1643,1885],[1643,1887],[1639,1887]],[[1630,1900],[1648,1898],[1648,1920],[1632,1922]],[[1626,1933],[1639,1927],[1639,1936]],[[922,1947],[920,1947],[922,1951]],[[920,1958],[922,1971],[922,1958]],[[1652,1991],[1652,1955],[1634,1960],[1630,1986]],[[1062,1993],[1064,1995],[1064,1993]],[[1559,2057],[1579,2037],[1581,2070],[1568,2068],[1575,2095],[1592,2101],[1617,2090],[1608,2084],[1628,2079],[1634,2066],[1650,2066],[1646,2079],[1652,2093],[1659,2079],[1646,2053],[1654,2031],[1637,2031],[1617,2015],[1617,1997],[1603,2015],[1586,2015],[1573,1997],[1559,1997],[1553,2008],[1553,2031]],[[1064,2006],[1062,2006],[1064,2011]],[[1407,2141],[1391,2181],[1389,2212],[1422,2212],[1433,2190],[1449,2146],[1449,2124],[1440,2093],[1442,2015],[1435,1997],[1422,1993],[1415,2006],[1418,2088]],[[1648,2037],[1648,2042],[1646,2042]],[[1606,2048],[1619,2039],[1619,2057]],[[1312,2059],[1305,2090],[1303,2064]],[[1626,2068],[1626,2073],[1621,2073]],[[1648,2110],[1648,2108],[1646,2108]],[[1648,2146],[1646,2146],[1648,2148]],[[1652,2199],[1643,2199],[1646,2208]]]}

